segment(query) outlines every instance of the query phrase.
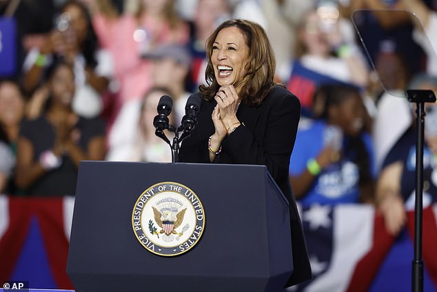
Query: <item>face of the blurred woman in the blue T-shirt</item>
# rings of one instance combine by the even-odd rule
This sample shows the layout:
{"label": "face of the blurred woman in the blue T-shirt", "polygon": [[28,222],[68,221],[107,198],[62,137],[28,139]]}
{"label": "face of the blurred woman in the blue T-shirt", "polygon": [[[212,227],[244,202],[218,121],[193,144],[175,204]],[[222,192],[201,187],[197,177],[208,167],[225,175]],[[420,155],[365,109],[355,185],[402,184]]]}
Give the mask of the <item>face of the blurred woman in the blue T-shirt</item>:
{"label": "face of the blurred woman in the blue T-shirt", "polygon": [[364,126],[364,104],[358,93],[352,94],[337,106],[335,111],[336,124],[340,126],[348,136],[356,136]]}

